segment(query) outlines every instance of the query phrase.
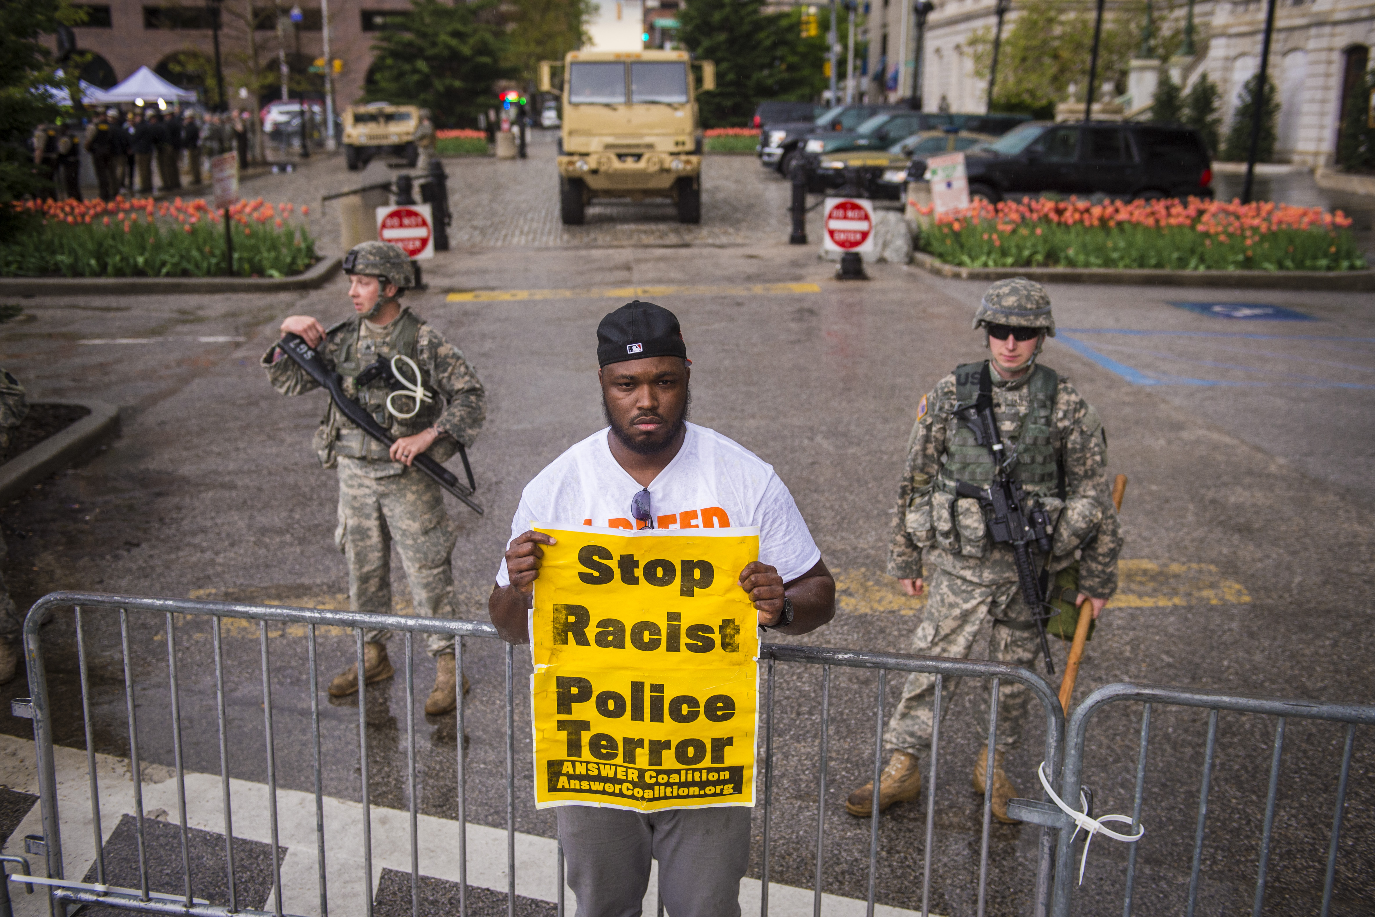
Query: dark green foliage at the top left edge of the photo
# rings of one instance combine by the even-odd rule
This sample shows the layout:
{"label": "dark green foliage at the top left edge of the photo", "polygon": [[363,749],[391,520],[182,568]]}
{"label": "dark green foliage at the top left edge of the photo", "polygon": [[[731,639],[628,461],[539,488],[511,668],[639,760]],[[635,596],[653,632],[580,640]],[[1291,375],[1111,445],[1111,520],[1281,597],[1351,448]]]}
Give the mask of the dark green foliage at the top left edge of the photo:
{"label": "dark green foliage at the top left edge of the photo", "polygon": [[34,173],[25,142],[44,121],[55,121],[60,109],[40,91],[44,85],[76,88],[78,66],[60,80],[56,62],[43,36],[59,23],[76,25],[85,18],[66,0],[4,0],[0,3],[0,242],[21,227],[11,201],[40,192],[47,181]]}

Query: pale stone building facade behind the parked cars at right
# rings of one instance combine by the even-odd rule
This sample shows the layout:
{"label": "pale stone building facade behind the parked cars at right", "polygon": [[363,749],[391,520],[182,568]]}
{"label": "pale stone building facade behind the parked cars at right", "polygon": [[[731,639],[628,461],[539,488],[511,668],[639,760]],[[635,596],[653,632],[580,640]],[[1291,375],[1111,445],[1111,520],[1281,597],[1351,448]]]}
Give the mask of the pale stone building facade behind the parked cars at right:
{"label": "pale stone building facade behind the parked cars at right", "polygon": [[[987,78],[975,76],[968,44],[975,32],[993,30],[996,10],[996,0],[935,0],[923,60],[925,109],[935,110],[945,99],[952,111],[984,110]],[[1004,30],[1016,19],[1016,10],[1013,0]],[[1225,129],[1238,93],[1260,66],[1265,1],[1200,0],[1194,15],[1200,56],[1170,65],[1187,81],[1185,88],[1204,73],[1218,85]],[[873,74],[868,98],[910,96],[916,49],[910,4],[870,0],[866,33]],[[1277,0],[1269,62],[1280,98],[1276,158],[1302,165],[1334,161],[1341,111],[1353,80],[1370,66],[1371,45],[1375,0]],[[1084,66],[1086,74],[1088,60]],[[1129,111],[1144,102],[1123,99]]]}

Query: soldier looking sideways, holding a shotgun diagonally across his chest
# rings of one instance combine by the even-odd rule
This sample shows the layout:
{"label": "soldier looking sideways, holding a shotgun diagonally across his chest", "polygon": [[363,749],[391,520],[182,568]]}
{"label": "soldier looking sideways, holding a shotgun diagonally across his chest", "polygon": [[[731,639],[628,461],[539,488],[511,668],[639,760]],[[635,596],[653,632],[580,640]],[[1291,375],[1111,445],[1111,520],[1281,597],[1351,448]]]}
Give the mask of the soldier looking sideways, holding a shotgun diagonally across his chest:
{"label": "soldier looking sideways, holding a shotgun diagonally across his chest", "polygon": [[[415,286],[406,252],[390,242],[363,242],[344,258],[349,274],[349,298],[358,312],[326,330],[309,316],[282,322],[282,334],[298,334],[316,348],[344,377],[344,392],[371,411],[396,443],[388,450],[344,417],[330,401],[315,433],[315,450],[324,467],[338,467],[340,506],[334,540],[348,558],[349,606],[355,612],[386,615],[392,610],[390,560],[395,543],[410,580],[415,610],[426,617],[456,617],[451,554],[458,538],[444,510],[439,484],[411,469],[415,456],[444,462],[458,444],[472,445],[487,414],[485,395],[463,355],[433,327],[399,302]],[[439,397],[415,408],[412,397],[389,392],[375,379],[359,388],[358,375],[374,360],[406,356],[419,367],[425,386]],[[400,374],[408,370],[403,360]],[[301,395],[316,388],[293,360],[280,359],[274,346],[263,357],[268,381],[282,395]],[[390,397],[390,404],[389,401]],[[386,631],[364,634],[363,678],[367,683],[390,678]],[[439,672],[425,703],[430,715],[456,705],[454,641],[428,637]],[[463,686],[465,692],[468,685]],[[330,694],[358,690],[358,668],[351,665],[330,682]]]}

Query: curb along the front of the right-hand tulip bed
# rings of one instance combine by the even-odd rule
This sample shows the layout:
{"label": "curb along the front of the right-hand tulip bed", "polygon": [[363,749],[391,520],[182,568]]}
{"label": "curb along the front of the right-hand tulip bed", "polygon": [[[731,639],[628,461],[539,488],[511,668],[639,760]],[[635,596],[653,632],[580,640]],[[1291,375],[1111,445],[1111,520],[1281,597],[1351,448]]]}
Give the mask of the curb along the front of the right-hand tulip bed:
{"label": "curb along the front of the right-hand tulip bed", "polygon": [[1163,271],[1138,268],[962,268],[916,252],[912,263],[938,276],[1005,280],[1024,276],[1038,283],[1108,283],[1140,286],[1221,286],[1244,290],[1375,290],[1375,271]]}

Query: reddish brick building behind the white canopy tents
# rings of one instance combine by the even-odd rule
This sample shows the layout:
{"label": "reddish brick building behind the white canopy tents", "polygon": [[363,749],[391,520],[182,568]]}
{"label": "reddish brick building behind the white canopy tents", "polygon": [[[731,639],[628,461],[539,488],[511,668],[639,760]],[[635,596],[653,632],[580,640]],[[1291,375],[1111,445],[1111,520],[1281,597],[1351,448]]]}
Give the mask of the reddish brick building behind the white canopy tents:
{"label": "reddish brick building behind the white canopy tents", "polygon": [[[330,56],[342,62],[334,77],[334,99],[340,107],[363,95],[367,69],[373,63],[374,33],[395,23],[399,14],[410,10],[408,0],[327,0],[330,25]],[[201,88],[202,81],[213,87],[212,18],[208,3],[172,3],[169,0],[110,0],[103,4],[80,4],[88,11],[87,22],[73,29],[77,48],[95,55],[82,76],[96,85],[109,88],[140,66],[148,66],[160,76],[188,89]],[[301,22],[290,22],[292,5],[274,5],[271,0],[224,0],[220,14],[220,55],[224,66],[226,92],[234,107],[265,104],[280,98],[279,91],[264,91],[261,100],[243,98],[238,89],[246,82],[252,45],[258,62],[276,71],[278,11],[286,34],[289,66],[294,73],[307,73],[309,65],[322,55],[323,18],[320,0],[300,3]],[[253,22],[253,41],[249,22]],[[191,63],[188,73],[186,63]],[[205,74],[204,77],[201,74]],[[323,77],[312,84],[323,87]]]}

